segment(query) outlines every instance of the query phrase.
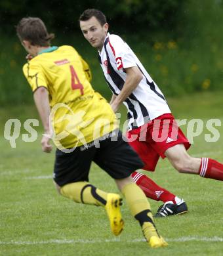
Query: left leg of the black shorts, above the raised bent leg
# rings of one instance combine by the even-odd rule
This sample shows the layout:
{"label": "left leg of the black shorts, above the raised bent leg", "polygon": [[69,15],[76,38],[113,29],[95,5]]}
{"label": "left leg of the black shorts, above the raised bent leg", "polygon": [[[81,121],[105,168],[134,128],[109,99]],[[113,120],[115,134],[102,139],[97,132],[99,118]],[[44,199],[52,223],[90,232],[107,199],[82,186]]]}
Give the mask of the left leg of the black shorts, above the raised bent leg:
{"label": "left leg of the black shorts, above the raised bent leg", "polygon": [[89,170],[96,150],[94,147],[81,150],[75,148],[73,152],[64,153],[56,150],[54,162],[54,182],[58,186],[77,181],[89,181]]}

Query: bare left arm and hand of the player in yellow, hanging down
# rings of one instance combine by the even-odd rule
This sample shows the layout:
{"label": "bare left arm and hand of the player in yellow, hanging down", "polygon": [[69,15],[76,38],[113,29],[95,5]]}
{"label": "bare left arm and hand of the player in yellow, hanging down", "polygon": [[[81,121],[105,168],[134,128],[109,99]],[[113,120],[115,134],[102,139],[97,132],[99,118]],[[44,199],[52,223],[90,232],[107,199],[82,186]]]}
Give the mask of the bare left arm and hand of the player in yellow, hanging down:
{"label": "bare left arm and hand of the player in yellow, hanging down", "polygon": [[[37,107],[37,110],[39,112],[39,116],[41,118],[41,121],[43,123],[43,128],[45,135],[50,135],[50,127],[49,127],[49,115],[51,112],[51,107],[49,104],[49,94],[48,91],[45,87],[39,87],[35,92],[34,92],[34,101],[35,101],[35,106]],[[52,146],[49,143],[50,137],[47,137],[43,135],[43,138],[41,140],[42,144],[42,150],[44,152],[51,152]]]}

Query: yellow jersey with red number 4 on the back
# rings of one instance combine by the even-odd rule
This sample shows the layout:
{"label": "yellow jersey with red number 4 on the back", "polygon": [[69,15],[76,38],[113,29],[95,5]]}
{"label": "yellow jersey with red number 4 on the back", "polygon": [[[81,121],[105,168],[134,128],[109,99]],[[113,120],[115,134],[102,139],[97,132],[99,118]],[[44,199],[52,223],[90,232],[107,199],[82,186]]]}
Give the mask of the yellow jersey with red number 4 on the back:
{"label": "yellow jersey with red number 4 on the back", "polygon": [[71,46],[49,47],[23,72],[33,92],[49,91],[54,143],[61,150],[97,140],[117,129],[110,104],[91,87],[91,70]]}

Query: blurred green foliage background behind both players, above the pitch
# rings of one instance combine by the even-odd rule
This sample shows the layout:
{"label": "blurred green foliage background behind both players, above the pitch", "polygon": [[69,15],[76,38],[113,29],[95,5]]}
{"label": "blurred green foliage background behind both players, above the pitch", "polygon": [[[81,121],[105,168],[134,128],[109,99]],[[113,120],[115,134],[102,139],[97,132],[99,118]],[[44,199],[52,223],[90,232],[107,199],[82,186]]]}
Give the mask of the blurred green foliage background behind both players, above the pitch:
{"label": "blurred green foliage background behind both players, above the pitch", "polygon": [[[105,84],[98,64],[97,52],[83,38],[77,22],[79,14],[84,9],[92,7],[104,11],[110,23],[110,32],[121,35],[127,41],[165,96],[223,89],[222,0],[167,1],[171,3],[169,14],[167,7],[163,7],[165,3],[163,0],[125,0],[117,2],[116,5],[112,0],[104,2],[104,5],[102,1],[95,3],[84,1],[83,5],[70,1],[63,3],[33,1],[32,5],[29,0],[19,2],[20,5],[16,5],[16,1],[0,1],[1,106],[12,102],[13,104],[32,102],[31,89],[22,74],[26,51],[18,41],[14,29],[14,25],[22,16],[43,18],[49,27],[49,32],[56,34],[56,39],[52,41],[53,45],[75,47],[91,66],[94,88],[110,98],[110,90]],[[150,8],[149,3],[152,3]],[[159,3],[163,3],[161,10],[166,10],[161,11],[163,14],[160,16],[157,12],[154,11],[156,14],[152,12],[159,9]],[[174,7],[174,3],[177,8]],[[116,14],[117,16],[113,16]],[[156,22],[153,20],[149,25],[144,21],[150,19],[149,16],[153,18],[155,15],[159,17]],[[175,23],[171,21],[170,15],[177,16],[172,17]],[[118,20],[118,16],[123,18]],[[167,24],[165,18],[169,20]],[[135,25],[129,25],[128,22],[131,20],[132,22],[136,20],[138,23],[133,22]]]}

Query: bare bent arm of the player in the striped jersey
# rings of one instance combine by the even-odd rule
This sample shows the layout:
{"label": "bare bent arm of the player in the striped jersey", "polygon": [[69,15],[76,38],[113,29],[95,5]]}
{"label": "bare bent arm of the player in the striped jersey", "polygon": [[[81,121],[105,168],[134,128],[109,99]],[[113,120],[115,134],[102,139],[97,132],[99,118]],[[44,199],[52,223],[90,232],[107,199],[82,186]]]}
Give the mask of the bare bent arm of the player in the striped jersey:
{"label": "bare bent arm of the player in the striped jersey", "polygon": [[136,89],[143,77],[137,66],[126,68],[125,72],[127,73],[127,77],[125,79],[123,89],[121,89],[121,92],[116,96],[115,100],[113,100],[111,104],[114,112],[116,112],[121,103],[131,95],[132,91]]}

